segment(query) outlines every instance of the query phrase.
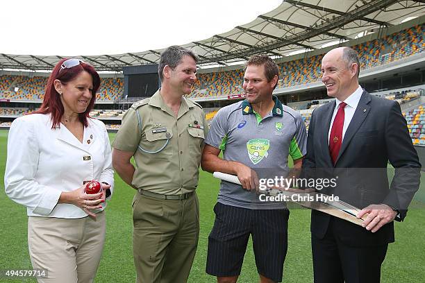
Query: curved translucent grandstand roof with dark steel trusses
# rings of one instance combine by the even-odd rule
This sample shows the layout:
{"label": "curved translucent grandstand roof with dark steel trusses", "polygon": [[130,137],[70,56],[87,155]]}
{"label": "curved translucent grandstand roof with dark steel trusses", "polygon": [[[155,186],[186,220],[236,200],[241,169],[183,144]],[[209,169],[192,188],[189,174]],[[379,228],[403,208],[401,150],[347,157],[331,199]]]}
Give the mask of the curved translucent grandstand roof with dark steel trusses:
{"label": "curved translucent grandstand roof with dark steel trusses", "polygon": [[[228,65],[256,53],[283,57],[292,51],[320,49],[330,42],[351,40],[364,31],[381,32],[406,17],[425,14],[425,0],[285,0],[278,8],[227,33],[190,42],[200,65]],[[117,55],[81,55],[99,71],[158,63],[162,50]],[[49,70],[58,55],[0,54],[0,69]]]}

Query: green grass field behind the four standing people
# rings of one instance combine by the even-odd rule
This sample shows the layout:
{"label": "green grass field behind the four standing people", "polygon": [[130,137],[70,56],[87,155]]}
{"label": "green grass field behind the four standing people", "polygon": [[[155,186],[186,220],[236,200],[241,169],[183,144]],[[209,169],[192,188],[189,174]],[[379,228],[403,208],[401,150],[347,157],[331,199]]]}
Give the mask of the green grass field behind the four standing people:
{"label": "green grass field behind the four standing people", "polygon": [[[0,130],[0,270],[29,269],[26,239],[26,208],[13,203],[4,193],[4,169],[6,166],[7,130]],[[110,134],[112,141],[114,135]],[[65,161],[65,160],[64,160]],[[424,176],[422,176],[424,178]],[[424,179],[425,181],[425,179]],[[425,182],[422,182],[425,184]],[[205,273],[208,234],[213,227],[213,206],[217,199],[219,182],[210,173],[201,172],[199,196],[201,206],[201,232],[197,255],[194,259],[189,282],[215,282],[215,277]],[[115,175],[115,194],[108,203],[106,244],[96,282],[134,282],[133,252],[131,246],[131,200],[135,191],[127,187]],[[417,196],[424,196],[424,185]],[[414,200],[403,223],[395,223],[396,242],[390,244],[383,264],[381,282],[424,282],[424,206]],[[60,263],[58,263],[60,264]],[[6,280],[0,282],[35,282],[35,280]],[[242,274],[238,282],[258,282],[251,243],[244,258]],[[283,282],[313,282],[313,266],[310,249],[310,211],[291,209],[288,237],[288,255],[285,260]],[[177,282],[178,283],[178,282]]]}

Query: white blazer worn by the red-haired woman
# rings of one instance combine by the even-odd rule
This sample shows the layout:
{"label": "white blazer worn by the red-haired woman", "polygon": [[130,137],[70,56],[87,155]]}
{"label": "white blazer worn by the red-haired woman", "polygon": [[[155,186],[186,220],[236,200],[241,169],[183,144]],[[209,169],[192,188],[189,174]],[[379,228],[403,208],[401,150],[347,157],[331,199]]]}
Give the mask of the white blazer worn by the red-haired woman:
{"label": "white blazer worn by the red-haired woman", "polygon": [[[85,180],[107,182],[113,193],[108,132],[103,122],[88,119],[81,143],[63,124],[52,130],[50,117],[29,114],[13,121],[4,175],[6,194],[25,205],[28,216],[82,218],[88,214],[58,200],[63,191],[74,191]],[[106,203],[102,205],[104,209]]]}

